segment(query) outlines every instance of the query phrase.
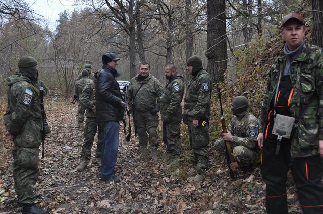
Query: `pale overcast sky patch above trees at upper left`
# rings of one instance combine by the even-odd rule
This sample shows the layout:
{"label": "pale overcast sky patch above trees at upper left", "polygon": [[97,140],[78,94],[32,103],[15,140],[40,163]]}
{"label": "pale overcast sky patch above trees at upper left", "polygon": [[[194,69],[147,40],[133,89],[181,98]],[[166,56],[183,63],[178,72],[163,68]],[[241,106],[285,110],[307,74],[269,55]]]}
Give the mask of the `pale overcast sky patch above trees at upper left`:
{"label": "pale overcast sky patch above trees at upper left", "polygon": [[43,16],[48,21],[49,27],[54,29],[57,25],[56,20],[64,10],[73,11],[74,0],[28,0],[35,13]]}

